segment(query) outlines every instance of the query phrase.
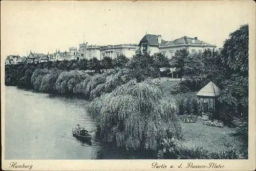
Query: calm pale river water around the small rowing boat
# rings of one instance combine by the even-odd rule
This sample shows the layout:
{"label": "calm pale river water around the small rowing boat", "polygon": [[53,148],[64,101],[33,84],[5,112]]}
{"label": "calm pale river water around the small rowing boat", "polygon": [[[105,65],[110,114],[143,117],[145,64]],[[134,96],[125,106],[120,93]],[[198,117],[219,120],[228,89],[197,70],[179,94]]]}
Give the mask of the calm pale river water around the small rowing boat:
{"label": "calm pale river water around the small rowing boat", "polygon": [[[127,155],[96,136],[96,123],[87,114],[89,102],[50,97],[5,86],[5,159],[143,159]],[[80,124],[91,143],[72,135]]]}

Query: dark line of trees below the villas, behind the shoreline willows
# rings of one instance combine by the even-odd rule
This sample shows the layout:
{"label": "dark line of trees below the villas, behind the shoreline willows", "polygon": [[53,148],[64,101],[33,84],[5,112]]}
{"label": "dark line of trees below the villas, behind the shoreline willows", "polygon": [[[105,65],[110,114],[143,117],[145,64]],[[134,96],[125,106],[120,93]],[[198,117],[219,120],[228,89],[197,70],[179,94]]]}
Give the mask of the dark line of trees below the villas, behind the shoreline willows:
{"label": "dark line of trees below the villas, behind the shoreline willows", "polygon": [[36,69],[57,69],[62,71],[80,70],[87,71],[89,75],[102,74],[113,68],[126,69],[126,79],[135,78],[139,82],[147,77],[158,78],[161,67],[169,67],[169,59],[162,54],[150,56],[138,54],[129,59],[120,55],[115,59],[104,57],[102,60],[92,58],[90,60],[63,60],[44,63],[21,63],[17,65],[5,65],[5,85],[17,86],[18,88],[34,89],[31,77]]}

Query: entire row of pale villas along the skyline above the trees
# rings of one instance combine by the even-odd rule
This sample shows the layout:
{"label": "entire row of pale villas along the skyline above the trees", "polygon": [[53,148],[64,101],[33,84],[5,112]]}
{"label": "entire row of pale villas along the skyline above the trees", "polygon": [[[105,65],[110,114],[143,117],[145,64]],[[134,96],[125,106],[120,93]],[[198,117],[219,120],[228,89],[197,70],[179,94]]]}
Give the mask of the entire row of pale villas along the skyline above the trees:
{"label": "entire row of pale villas along the skyline above the trees", "polygon": [[119,45],[88,45],[88,42],[80,43],[79,48],[70,47],[69,51],[60,52],[57,49],[53,54],[36,54],[30,51],[30,54],[20,60],[20,57],[10,55],[7,57],[6,64],[16,64],[21,61],[29,63],[48,62],[48,61],[63,61],[63,60],[81,60],[102,58],[108,56],[113,59],[119,55],[125,55],[128,58],[132,58],[138,53],[148,53],[154,55],[156,53],[162,53],[171,59],[177,50],[186,48],[189,53],[203,52],[206,48],[213,50],[215,45],[209,44],[205,41],[199,40],[197,37],[191,38],[183,36],[173,41],[166,41],[162,39],[161,35],[146,34],[139,42],[139,44],[119,44]]}

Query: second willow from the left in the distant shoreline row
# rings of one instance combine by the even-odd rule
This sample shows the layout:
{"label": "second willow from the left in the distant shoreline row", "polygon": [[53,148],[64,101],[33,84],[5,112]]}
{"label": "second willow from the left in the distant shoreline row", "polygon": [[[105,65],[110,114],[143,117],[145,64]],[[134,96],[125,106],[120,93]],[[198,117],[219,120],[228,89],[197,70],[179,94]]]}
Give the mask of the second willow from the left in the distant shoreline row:
{"label": "second willow from the left in the distant shoreline row", "polygon": [[40,92],[46,92],[46,93],[54,93],[56,92],[56,81],[61,74],[61,70],[55,68],[51,69],[50,73],[45,75],[44,78],[42,78],[41,85],[40,85]]}

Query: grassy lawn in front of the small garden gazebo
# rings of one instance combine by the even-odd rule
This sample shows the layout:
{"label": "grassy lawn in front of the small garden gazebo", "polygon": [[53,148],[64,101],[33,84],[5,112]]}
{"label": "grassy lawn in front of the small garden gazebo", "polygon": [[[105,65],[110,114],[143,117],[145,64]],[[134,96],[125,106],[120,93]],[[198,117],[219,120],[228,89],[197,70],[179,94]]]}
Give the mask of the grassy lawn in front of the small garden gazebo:
{"label": "grassy lawn in front of the small garden gazebo", "polygon": [[242,148],[239,138],[232,136],[235,133],[233,128],[216,128],[203,125],[202,119],[198,119],[196,123],[182,123],[184,128],[184,139],[182,145],[187,148],[197,148],[202,146],[211,152],[221,152],[228,150],[231,146],[234,148]]}

